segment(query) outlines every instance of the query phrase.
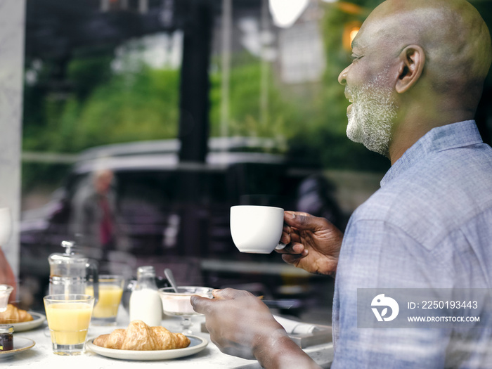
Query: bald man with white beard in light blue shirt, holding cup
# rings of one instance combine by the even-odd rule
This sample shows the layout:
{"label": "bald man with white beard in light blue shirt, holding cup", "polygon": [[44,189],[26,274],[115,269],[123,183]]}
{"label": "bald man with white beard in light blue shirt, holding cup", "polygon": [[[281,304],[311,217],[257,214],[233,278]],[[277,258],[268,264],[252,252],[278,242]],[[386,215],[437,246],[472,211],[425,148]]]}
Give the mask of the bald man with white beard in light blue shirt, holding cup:
{"label": "bald man with white beard in light blue shirt, holding cup", "polygon": [[[491,63],[488,29],[465,0],[387,0],[352,46],[339,76],[352,102],[347,136],[391,168],[344,235],[285,212],[283,259],[336,272],[332,368],[492,368],[490,314],[473,328],[357,326],[358,289],[492,287],[492,149],[472,120]],[[316,368],[258,299],[214,295],[192,303],[222,351],[265,368]]]}

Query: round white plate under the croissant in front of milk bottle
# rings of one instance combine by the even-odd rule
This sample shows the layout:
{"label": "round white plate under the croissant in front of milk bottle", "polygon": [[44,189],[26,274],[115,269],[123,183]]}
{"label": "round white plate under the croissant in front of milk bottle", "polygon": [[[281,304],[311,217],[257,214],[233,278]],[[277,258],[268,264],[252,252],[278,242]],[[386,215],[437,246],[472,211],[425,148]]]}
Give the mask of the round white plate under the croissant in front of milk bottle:
{"label": "round white plate under the croissant in front of milk bottle", "polygon": [[155,351],[134,351],[134,350],[117,350],[106,349],[105,347],[99,347],[93,344],[94,339],[89,339],[86,342],[86,348],[96,354],[108,356],[108,358],[122,358],[124,360],[167,360],[170,358],[182,358],[183,356],[190,356],[202,351],[207,347],[209,343],[207,339],[186,335],[190,339],[190,346],[184,349],[174,350],[155,350]]}

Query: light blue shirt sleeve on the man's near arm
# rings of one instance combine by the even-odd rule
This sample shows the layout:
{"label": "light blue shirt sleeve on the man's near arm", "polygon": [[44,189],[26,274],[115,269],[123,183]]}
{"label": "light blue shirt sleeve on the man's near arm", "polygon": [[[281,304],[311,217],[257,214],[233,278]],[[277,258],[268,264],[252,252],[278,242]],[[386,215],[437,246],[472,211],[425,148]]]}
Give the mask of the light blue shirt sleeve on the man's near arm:
{"label": "light blue shirt sleeve on the man's near arm", "polygon": [[432,251],[399,228],[374,220],[349,224],[335,280],[332,368],[444,368],[447,330],[358,328],[357,309],[370,306],[358,307],[357,290],[432,287],[445,281],[446,271]]}

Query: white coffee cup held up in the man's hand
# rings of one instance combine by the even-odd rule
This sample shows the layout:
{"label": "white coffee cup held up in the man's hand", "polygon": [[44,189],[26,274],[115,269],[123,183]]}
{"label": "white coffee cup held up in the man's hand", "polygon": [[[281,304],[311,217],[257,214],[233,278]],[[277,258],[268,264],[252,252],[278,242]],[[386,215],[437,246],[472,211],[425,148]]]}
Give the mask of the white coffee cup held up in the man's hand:
{"label": "white coffee cup held up in the man's hand", "polygon": [[282,250],[283,209],[258,205],[231,207],[231,235],[240,252],[270,254]]}

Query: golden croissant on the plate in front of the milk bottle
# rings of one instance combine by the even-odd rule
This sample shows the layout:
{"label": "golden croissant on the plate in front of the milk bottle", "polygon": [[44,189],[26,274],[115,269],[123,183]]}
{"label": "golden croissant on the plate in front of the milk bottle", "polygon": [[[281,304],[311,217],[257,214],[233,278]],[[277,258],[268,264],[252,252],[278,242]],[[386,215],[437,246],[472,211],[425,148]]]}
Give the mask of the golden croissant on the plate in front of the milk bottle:
{"label": "golden croissant on the plate in front of the milk bottle", "polygon": [[93,344],[106,349],[171,350],[188,347],[190,339],[164,327],[149,327],[143,321],[132,321],[127,329],[116,329],[109,335],[98,336]]}

